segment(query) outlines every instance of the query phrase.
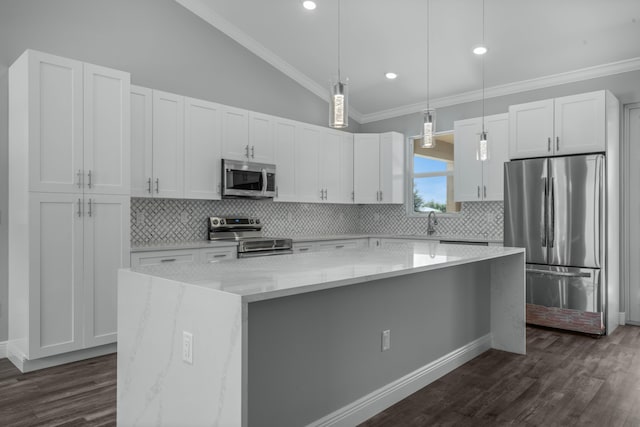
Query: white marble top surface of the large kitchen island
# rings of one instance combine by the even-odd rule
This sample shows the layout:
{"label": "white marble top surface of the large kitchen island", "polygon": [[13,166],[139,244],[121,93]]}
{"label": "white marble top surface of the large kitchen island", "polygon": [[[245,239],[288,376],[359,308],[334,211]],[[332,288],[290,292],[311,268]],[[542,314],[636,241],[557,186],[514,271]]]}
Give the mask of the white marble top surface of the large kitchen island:
{"label": "white marble top surface of the large kitchen island", "polygon": [[345,249],[132,270],[235,294],[250,303],[518,253],[524,249],[419,241],[405,248]]}

